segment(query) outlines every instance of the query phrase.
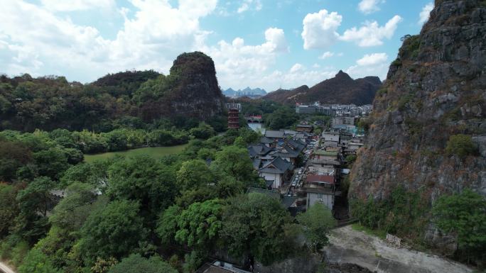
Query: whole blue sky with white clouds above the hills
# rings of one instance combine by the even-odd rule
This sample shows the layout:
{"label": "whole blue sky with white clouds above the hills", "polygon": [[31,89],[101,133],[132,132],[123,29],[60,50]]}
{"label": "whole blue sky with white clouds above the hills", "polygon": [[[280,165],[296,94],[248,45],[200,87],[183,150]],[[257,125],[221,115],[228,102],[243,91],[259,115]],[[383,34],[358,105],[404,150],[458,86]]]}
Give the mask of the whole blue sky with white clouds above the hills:
{"label": "whole blue sky with white clouds above the hills", "polygon": [[93,82],[168,74],[182,52],[215,62],[222,89],[309,87],[339,70],[384,80],[431,0],[0,0],[0,74]]}

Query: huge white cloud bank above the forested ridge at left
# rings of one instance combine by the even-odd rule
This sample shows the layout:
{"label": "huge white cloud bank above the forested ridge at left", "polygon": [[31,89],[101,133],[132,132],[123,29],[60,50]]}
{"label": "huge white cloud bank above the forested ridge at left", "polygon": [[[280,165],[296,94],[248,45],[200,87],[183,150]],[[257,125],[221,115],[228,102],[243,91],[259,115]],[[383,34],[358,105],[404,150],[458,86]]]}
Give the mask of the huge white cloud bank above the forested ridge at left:
{"label": "huge white cloud bank above the forested ridge at left", "polygon": [[[85,82],[133,68],[167,72],[180,52],[201,48],[208,32],[200,29],[199,20],[214,11],[216,3],[180,0],[175,8],[167,1],[131,0],[134,16],[127,18],[126,10],[122,12],[123,27],[115,38],[107,39],[96,28],[58,15],[60,9],[49,6],[49,0],[41,5],[2,1],[0,44],[9,53],[0,57],[1,69],[36,75],[42,68],[42,74],[63,74]],[[77,9],[87,8],[80,4]]]}

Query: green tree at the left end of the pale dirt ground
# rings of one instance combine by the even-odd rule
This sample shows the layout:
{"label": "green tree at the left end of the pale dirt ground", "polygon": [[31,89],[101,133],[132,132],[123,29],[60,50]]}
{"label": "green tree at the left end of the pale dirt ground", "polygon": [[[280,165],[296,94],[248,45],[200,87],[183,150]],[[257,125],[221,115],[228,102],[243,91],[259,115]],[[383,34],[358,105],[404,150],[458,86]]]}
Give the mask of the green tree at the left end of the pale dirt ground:
{"label": "green tree at the left end of the pale dirt ground", "polygon": [[323,204],[314,204],[305,213],[297,215],[303,234],[314,252],[328,243],[328,233],[336,225],[333,213]]}

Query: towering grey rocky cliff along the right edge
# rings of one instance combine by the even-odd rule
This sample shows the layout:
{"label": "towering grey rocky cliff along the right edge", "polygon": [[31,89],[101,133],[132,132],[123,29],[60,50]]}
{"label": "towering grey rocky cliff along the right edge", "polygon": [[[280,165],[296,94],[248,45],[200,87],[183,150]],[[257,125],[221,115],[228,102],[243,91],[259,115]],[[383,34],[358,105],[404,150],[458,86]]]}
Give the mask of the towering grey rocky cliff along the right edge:
{"label": "towering grey rocky cliff along the right edge", "polygon": [[[402,185],[429,204],[466,187],[486,195],[486,4],[436,0],[419,35],[404,40],[374,99],[367,147],[350,199],[386,199]],[[446,152],[453,135],[476,152]]]}

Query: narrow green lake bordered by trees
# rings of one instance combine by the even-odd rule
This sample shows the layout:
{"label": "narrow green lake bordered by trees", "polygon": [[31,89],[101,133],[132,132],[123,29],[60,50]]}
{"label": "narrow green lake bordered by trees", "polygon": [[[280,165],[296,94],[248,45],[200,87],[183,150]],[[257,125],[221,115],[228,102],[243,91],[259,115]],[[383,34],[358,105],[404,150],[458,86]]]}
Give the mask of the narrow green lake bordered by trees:
{"label": "narrow green lake bordered by trees", "polygon": [[175,145],[175,146],[168,146],[168,147],[143,147],[138,149],[132,150],[125,150],[119,152],[104,152],[102,154],[96,155],[85,155],[85,162],[93,162],[95,160],[106,160],[107,158],[114,157],[115,155],[124,155],[124,156],[132,156],[132,155],[150,155],[153,158],[161,158],[164,155],[173,155],[178,154],[187,147],[188,144],[183,145]]}

